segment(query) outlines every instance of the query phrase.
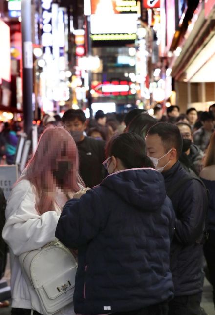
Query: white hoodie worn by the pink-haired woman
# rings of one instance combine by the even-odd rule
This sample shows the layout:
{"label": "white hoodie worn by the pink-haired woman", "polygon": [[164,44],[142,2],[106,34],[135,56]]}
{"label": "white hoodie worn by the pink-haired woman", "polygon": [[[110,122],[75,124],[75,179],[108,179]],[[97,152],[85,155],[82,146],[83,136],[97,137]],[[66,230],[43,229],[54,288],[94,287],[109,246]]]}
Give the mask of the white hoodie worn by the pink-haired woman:
{"label": "white hoodie worn by the pink-haired woman", "polygon": [[[56,211],[39,215],[35,209],[35,194],[28,180],[21,180],[12,189],[5,210],[6,223],[2,236],[10,247],[12,307],[34,309],[43,314],[35,291],[29,288],[19,265],[18,256],[38,249],[55,238],[55,230],[60,217]],[[73,304],[69,304],[55,315],[73,315]]]}

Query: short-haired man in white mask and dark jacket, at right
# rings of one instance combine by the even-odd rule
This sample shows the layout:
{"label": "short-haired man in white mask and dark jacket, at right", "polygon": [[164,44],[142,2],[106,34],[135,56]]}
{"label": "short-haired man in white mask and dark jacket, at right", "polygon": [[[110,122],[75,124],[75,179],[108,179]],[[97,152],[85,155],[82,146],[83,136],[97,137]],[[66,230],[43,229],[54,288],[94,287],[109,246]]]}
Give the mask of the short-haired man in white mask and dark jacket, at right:
{"label": "short-haired man in white mask and dark jacket, at right", "polygon": [[[201,301],[202,238],[207,193],[197,179],[190,179],[178,161],[182,137],[177,126],[158,123],[146,136],[147,155],[163,174],[167,195],[176,215],[175,234],[171,243],[170,269],[174,283],[174,299],[169,302],[169,315],[199,315]],[[173,191],[172,188],[177,187]]]}

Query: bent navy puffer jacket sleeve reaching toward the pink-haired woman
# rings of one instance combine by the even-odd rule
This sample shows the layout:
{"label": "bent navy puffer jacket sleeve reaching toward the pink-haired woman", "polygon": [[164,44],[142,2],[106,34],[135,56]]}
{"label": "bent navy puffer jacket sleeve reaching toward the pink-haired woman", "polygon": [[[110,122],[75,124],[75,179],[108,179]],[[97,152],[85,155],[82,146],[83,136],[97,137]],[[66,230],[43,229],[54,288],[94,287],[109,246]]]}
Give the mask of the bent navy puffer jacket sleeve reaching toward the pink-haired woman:
{"label": "bent navy puffer jacket sleeve reaching toward the pink-haired woman", "polygon": [[80,199],[65,204],[55,235],[68,248],[84,246],[103,228],[105,217],[100,197],[89,190]]}

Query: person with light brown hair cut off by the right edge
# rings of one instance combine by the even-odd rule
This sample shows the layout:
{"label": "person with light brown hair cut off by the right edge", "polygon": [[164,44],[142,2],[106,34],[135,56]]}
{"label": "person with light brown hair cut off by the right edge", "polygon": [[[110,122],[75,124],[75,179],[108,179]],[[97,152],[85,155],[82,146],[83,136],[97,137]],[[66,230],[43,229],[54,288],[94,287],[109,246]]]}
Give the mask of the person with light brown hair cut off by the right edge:
{"label": "person with light brown hair cut off by the right edge", "polygon": [[205,159],[205,167],[200,177],[209,191],[207,213],[208,239],[204,244],[204,254],[208,265],[210,282],[213,287],[213,302],[215,306],[215,132],[211,137]]}

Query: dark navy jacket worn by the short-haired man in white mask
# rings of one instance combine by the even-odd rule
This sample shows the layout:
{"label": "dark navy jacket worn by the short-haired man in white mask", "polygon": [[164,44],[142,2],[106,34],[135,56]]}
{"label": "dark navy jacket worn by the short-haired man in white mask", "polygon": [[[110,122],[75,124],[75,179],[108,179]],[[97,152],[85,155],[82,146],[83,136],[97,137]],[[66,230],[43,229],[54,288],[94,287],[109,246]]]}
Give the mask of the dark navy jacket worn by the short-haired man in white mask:
{"label": "dark navy jacket worn by the short-haired man in white mask", "polygon": [[[187,172],[177,162],[163,173],[166,189],[176,185]],[[202,245],[207,212],[207,193],[203,185],[193,179],[186,182],[171,197],[176,215],[175,234],[171,244],[171,263],[175,296],[193,295],[201,289]]]}

